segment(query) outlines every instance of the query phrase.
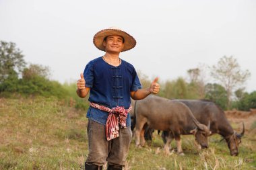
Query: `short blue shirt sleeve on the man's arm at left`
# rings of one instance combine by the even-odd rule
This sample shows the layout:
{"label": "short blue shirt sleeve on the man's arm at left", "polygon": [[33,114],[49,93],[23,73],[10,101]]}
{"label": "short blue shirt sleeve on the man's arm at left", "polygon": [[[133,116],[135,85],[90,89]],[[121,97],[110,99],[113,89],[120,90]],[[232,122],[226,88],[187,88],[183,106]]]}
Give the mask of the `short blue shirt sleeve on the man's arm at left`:
{"label": "short blue shirt sleeve on the man's arm at left", "polygon": [[92,88],[94,86],[94,65],[92,62],[89,62],[84,69],[84,79],[86,87]]}

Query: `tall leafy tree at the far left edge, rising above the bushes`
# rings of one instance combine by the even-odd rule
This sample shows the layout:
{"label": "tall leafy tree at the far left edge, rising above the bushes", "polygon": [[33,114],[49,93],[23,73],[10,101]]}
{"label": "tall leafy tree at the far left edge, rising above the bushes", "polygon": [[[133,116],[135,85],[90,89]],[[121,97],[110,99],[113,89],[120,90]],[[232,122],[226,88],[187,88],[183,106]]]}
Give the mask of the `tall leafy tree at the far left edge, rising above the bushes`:
{"label": "tall leafy tree at the far left edge, rising above the bushes", "polygon": [[9,76],[18,76],[26,62],[22,52],[13,42],[0,42],[0,83],[3,83]]}

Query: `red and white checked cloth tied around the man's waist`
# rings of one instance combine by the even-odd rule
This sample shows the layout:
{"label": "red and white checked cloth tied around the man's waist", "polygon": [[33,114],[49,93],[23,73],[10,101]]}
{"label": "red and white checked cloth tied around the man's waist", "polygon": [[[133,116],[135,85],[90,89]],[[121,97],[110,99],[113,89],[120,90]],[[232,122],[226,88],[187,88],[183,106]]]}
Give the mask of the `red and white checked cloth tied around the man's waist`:
{"label": "red and white checked cloth tied around the man's waist", "polygon": [[90,103],[90,105],[98,110],[108,112],[108,119],[106,120],[106,140],[119,137],[119,124],[121,128],[127,128],[126,118],[128,112],[131,111],[131,106],[129,109],[125,110],[125,108],[120,106],[110,109],[104,105],[98,105],[96,103]]}

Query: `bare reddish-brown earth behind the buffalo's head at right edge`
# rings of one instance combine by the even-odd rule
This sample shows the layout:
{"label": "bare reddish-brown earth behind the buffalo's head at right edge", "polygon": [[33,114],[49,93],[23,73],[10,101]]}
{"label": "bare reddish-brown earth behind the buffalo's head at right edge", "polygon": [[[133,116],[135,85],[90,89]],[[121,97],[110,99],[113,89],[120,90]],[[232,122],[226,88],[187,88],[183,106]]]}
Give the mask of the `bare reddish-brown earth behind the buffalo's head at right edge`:
{"label": "bare reddish-brown earth behind the buffalo's head at right edge", "polygon": [[[231,124],[236,124],[235,128],[238,132],[242,131],[243,123],[245,124],[245,132],[256,133],[256,109],[251,109],[249,112],[240,110],[228,110],[225,111],[226,117]],[[254,126],[254,128],[253,128]]]}

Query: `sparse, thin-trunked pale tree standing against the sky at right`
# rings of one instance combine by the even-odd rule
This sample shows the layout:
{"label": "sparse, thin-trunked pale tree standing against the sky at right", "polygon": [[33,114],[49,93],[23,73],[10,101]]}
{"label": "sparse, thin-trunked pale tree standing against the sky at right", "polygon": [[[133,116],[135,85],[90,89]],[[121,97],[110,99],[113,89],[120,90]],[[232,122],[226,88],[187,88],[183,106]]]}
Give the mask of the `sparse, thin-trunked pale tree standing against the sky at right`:
{"label": "sparse, thin-trunked pale tree standing against the sky at right", "polygon": [[241,71],[237,60],[232,56],[223,56],[218,61],[218,64],[212,67],[211,75],[225,88],[227,94],[227,108],[230,109],[233,91],[237,89],[237,87],[241,87],[251,74],[248,70]]}

